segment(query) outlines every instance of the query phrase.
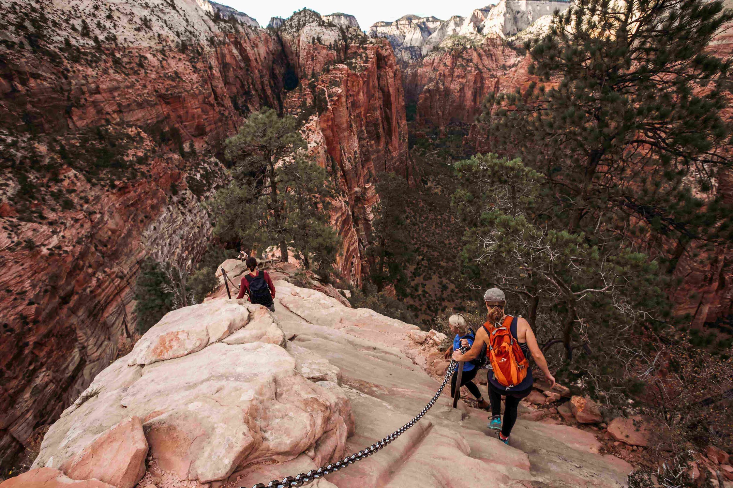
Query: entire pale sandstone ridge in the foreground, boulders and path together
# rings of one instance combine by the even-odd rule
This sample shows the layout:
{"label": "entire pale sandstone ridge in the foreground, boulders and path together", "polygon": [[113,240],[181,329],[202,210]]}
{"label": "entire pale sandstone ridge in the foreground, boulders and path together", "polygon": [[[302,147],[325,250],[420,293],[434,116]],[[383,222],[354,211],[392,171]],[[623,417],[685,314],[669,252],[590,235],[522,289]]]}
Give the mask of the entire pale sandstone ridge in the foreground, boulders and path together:
{"label": "entire pale sandstone ridge in the foreground, boulders and path together", "polygon": [[[62,413],[33,469],[0,487],[267,484],[358,452],[426,405],[438,388],[426,370],[447,365],[442,334],[272,275],[274,314],[221,290],[169,312]],[[561,396],[547,393],[534,396]],[[571,408],[589,410],[581,403]],[[311,486],[625,486],[630,465],[599,454],[591,432],[520,412],[506,446],[487,434],[487,412],[454,409],[443,392],[398,440]]]}

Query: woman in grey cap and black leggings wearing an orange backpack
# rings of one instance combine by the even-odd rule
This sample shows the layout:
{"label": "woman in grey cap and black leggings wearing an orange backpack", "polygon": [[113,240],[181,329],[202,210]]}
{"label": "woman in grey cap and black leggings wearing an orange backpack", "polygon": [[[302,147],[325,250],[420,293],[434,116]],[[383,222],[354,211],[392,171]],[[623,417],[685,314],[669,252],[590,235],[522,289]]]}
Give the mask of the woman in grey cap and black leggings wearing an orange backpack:
{"label": "woman in grey cap and black leggings wearing an orange backpack", "polygon": [[[482,353],[486,345],[487,364],[493,371],[489,371],[489,401],[491,402],[491,420],[488,427],[500,430],[499,438],[509,444],[509,434],[512,433],[517,421],[517,408],[520,399],[532,391],[532,370],[529,368],[528,353],[532,353],[534,362],[545,374],[550,388],[555,385],[555,378],[550,374],[548,361],[539,350],[537,338],[523,318],[513,317],[504,313],[507,299],[504,292],[498,288],[490,288],[484,293],[486,303],[486,323],[476,332],[476,340],[470,350],[461,354],[453,353],[456,361],[471,361]],[[501,420],[501,397],[504,396],[504,421]]]}

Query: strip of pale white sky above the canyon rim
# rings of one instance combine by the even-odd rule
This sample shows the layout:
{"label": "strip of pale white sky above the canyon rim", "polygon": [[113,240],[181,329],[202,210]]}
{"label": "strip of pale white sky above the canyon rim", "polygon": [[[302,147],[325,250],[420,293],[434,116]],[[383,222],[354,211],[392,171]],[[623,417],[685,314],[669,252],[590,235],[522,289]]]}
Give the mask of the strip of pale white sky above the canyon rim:
{"label": "strip of pale white sky above the canyon rim", "polygon": [[[270,17],[288,18],[295,10],[303,7],[315,10],[321,15],[333,12],[351,14],[358,20],[361,30],[366,31],[377,20],[396,20],[405,14],[415,14],[421,17],[435,15],[446,20],[451,15],[467,16],[474,9],[485,7],[481,1],[453,0],[453,1],[419,1],[419,0],[216,0],[220,4],[234,7],[250,17],[257,19],[259,25],[267,27]],[[486,0],[487,4],[496,1]]]}

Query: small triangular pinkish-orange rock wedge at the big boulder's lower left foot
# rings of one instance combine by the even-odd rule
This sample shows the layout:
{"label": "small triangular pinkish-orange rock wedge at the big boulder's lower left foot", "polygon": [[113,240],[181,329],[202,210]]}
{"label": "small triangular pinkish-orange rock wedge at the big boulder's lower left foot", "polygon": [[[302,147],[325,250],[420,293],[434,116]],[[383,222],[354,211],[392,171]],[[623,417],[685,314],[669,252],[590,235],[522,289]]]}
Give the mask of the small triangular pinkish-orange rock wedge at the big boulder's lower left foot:
{"label": "small triangular pinkish-orange rock wedge at the big boulder's lower left foot", "polygon": [[145,474],[147,440],[138,417],[130,417],[99,435],[62,465],[71,479],[95,478],[117,488],[133,488]]}

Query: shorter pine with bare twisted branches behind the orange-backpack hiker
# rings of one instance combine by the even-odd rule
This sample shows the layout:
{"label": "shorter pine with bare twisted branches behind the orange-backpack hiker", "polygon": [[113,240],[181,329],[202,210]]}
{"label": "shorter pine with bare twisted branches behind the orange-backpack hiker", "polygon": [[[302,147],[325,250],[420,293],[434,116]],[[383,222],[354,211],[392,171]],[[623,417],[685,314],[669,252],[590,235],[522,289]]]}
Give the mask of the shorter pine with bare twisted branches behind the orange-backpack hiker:
{"label": "shorter pine with bare twisted branches behind the orange-backpack hiker", "polygon": [[461,188],[453,203],[466,225],[469,279],[520,298],[526,306],[515,309],[537,324],[546,347],[562,344],[572,359],[573,350],[611,345],[608,334],[635,331],[649,312],[658,312],[657,263],[545,225],[541,173],[494,154],[460,162],[456,170]]}

